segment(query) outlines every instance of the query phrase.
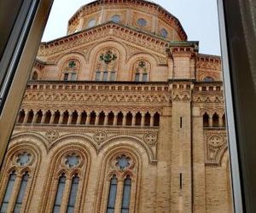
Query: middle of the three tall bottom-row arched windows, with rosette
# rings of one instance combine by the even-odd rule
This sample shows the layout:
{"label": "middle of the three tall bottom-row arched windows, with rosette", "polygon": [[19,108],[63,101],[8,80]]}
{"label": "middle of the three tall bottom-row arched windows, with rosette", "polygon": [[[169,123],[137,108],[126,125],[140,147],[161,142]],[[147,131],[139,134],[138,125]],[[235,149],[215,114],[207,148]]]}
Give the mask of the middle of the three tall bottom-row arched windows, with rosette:
{"label": "middle of the three tall bottom-row arched windows, with rosette", "polygon": [[87,150],[80,145],[62,147],[51,159],[50,173],[40,212],[79,212],[79,199],[84,199]]}

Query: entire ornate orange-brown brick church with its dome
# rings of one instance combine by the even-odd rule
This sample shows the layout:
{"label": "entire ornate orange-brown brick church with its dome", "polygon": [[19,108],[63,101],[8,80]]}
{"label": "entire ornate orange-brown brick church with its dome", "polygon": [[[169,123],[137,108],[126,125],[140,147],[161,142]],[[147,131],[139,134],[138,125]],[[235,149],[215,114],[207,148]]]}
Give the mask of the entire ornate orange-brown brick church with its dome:
{"label": "entire ornate orange-brown brick church with its dome", "polygon": [[223,89],[220,57],[160,5],[84,5],[40,45],[0,212],[232,212]]}

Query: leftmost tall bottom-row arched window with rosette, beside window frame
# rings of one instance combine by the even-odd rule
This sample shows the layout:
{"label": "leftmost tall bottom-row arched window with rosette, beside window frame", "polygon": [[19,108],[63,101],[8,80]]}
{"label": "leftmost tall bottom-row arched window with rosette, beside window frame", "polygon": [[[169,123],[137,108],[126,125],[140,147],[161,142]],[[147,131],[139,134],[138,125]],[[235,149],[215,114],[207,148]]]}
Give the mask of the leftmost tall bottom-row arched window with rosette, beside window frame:
{"label": "leftmost tall bottom-row arched window with rosette, beside window frame", "polygon": [[1,171],[0,190],[4,194],[0,196],[0,212],[28,212],[26,202],[31,196],[33,174],[38,170],[38,150],[26,141],[9,148],[6,156]]}

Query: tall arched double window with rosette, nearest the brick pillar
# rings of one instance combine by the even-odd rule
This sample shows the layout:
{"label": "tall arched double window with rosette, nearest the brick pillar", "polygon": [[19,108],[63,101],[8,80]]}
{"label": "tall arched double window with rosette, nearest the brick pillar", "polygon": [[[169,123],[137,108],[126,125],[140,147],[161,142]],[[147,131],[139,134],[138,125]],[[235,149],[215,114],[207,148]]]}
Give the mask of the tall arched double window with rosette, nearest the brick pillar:
{"label": "tall arched double window with rosette, nearest the brick pillar", "polygon": [[138,192],[137,157],[127,149],[125,152],[113,153],[107,158],[107,173],[102,177],[107,186],[102,185],[104,199],[101,199],[102,205],[99,206],[98,212],[134,212]]}

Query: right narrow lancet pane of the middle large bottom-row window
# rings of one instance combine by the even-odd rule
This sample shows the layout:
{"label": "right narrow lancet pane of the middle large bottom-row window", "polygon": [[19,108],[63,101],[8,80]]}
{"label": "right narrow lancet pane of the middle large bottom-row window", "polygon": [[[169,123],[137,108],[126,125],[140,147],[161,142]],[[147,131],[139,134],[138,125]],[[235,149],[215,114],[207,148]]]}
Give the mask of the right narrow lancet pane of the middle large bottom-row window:
{"label": "right narrow lancet pane of the middle large bottom-row window", "polygon": [[76,204],[77,193],[79,189],[79,176],[76,174],[72,179],[69,199],[67,203],[67,213],[73,213]]}

